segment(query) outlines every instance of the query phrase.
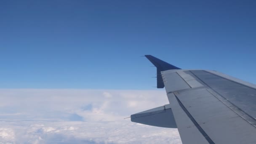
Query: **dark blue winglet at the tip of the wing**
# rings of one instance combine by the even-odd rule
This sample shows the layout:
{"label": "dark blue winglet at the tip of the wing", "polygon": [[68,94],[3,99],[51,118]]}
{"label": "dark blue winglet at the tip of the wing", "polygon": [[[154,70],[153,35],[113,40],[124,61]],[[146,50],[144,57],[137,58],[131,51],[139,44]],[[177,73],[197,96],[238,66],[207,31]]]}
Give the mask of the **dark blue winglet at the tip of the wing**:
{"label": "dark blue winglet at the tip of the wing", "polygon": [[157,59],[154,56],[151,55],[145,55],[149,61],[154,64],[155,67],[157,67],[157,88],[164,88],[163,78],[161,75],[161,71],[169,70],[169,69],[181,69],[179,67],[175,67],[171,64],[168,64],[165,61],[162,61],[160,59]]}

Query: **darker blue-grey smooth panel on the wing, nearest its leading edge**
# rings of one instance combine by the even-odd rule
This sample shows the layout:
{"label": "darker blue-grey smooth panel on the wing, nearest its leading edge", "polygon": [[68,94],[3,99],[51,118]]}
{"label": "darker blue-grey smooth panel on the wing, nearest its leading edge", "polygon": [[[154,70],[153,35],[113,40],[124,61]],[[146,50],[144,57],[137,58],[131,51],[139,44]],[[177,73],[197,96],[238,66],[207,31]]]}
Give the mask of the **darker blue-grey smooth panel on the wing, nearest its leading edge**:
{"label": "darker blue-grey smooth panel on the wing, nearest its leading edge", "polygon": [[243,112],[256,117],[256,89],[202,70],[191,72]]}

